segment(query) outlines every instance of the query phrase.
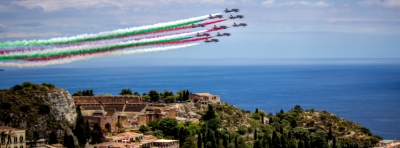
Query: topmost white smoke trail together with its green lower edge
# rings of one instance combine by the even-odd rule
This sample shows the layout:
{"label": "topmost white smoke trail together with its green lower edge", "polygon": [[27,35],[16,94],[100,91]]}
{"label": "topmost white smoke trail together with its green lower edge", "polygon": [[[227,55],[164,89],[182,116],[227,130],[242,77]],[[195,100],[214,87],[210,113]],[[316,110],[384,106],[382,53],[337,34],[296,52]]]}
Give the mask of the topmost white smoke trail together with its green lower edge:
{"label": "topmost white smoke trail together with its green lower edge", "polygon": [[[213,14],[216,15],[216,14]],[[77,42],[84,42],[84,41],[94,41],[94,40],[102,40],[102,39],[109,39],[109,38],[118,38],[136,34],[143,34],[149,32],[156,32],[160,30],[167,30],[178,28],[198,22],[202,22],[208,18],[208,15],[200,16],[196,18],[190,18],[185,20],[179,20],[175,22],[167,22],[167,23],[160,23],[155,25],[149,26],[142,26],[142,27],[132,27],[127,29],[119,29],[114,31],[108,32],[100,32],[98,34],[83,34],[77,35],[73,37],[63,37],[63,38],[52,38],[49,40],[29,40],[29,41],[15,41],[15,42],[5,42],[0,43],[0,48],[6,47],[21,47],[21,46],[39,46],[39,45],[58,45],[58,44],[69,44],[69,43],[77,43]]]}

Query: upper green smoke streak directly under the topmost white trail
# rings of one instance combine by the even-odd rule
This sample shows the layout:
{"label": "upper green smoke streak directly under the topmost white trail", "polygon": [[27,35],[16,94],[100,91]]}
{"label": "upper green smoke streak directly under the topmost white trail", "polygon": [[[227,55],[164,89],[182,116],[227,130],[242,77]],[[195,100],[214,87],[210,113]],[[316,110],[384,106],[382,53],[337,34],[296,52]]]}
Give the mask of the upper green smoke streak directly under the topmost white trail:
{"label": "upper green smoke streak directly under the topmost white trail", "polygon": [[198,19],[194,21],[186,21],[183,23],[173,24],[173,25],[166,25],[160,27],[152,27],[148,29],[141,29],[141,30],[134,30],[128,31],[123,33],[111,33],[107,35],[99,35],[94,37],[86,37],[86,38],[74,38],[74,39],[59,39],[59,40],[30,40],[30,41],[15,41],[15,42],[5,42],[0,43],[0,48],[7,48],[7,47],[21,47],[21,46],[40,46],[40,45],[59,45],[59,44],[70,44],[70,43],[78,43],[78,42],[85,42],[85,41],[95,41],[95,40],[103,40],[103,39],[111,39],[111,38],[118,38],[118,37],[125,37],[130,35],[139,35],[145,33],[151,33],[161,30],[173,29],[182,26],[191,25],[194,23],[202,22],[204,19]]}

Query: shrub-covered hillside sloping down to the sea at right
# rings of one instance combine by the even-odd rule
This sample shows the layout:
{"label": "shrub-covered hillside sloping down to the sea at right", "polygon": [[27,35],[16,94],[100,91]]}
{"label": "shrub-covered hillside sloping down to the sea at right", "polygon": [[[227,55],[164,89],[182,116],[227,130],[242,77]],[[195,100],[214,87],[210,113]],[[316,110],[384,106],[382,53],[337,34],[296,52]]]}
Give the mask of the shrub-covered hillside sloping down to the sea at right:
{"label": "shrub-covered hillside sloping down to the sea at right", "polygon": [[[254,131],[257,131],[258,137],[268,135],[266,137],[271,139],[273,139],[274,131],[285,135],[288,147],[290,147],[291,139],[295,139],[293,143],[297,145],[299,141],[304,141],[304,143],[308,141],[312,144],[320,138],[331,145],[335,138],[335,143],[358,146],[371,146],[381,139],[358,123],[327,111],[303,110],[298,105],[287,112],[281,110],[275,115],[266,114],[258,109],[250,113],[226,102],[215,104],[214,108],[220,118],[221,128],[239,133],[248,143],[254,143]],[[264,124],[262,119],[264,119]],[[331,135],[328,134],[329,130],[331,130]]]}

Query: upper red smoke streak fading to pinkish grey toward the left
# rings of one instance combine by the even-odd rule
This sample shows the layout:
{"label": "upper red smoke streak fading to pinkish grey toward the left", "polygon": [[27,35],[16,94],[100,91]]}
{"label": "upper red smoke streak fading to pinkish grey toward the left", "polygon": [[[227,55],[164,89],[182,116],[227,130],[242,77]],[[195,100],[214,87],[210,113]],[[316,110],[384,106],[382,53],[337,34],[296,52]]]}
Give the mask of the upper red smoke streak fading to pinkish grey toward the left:
{"label": "upper red smoke streak fading to pinkish grey toward the left", "polygon": [[[202,24],[207,26],[207,25],[211,25],[211,24],[220,23],[220,22],[223,22],[226,20],[228,20],[228,19],[204,22]],[[167,30],[160,30],[160,31],[144,33],[144,34],[137,34],[137,35],[157,34],[157,33],[191,29],[191,28],[192,28],[192,25],[173,28],[173,29],[167,29]],[[210,32],[210,31],[208,31],[208,32]],[[89,45],[89,44],[93,45],[93,44],[100,44],[100,43],[115,43],[115,42],[120,42],[120,41],[141,40],[141,39],[149,39],[149,38],[168,36],[168,35],[159,35],[159,36],[146,37],[146,38],[136,38],[137,35],[130,35],[130,36],[119,37],[119,38],[111,38],[111,39],[107,39],[107,40],[86,41],[86,42],[61,44],[61,45],[13,47],[13,48],[8,48],[7,50],[3,50],[3,51],[0,50],[0,55],[10,54],[10,53],[14,53],[14,52],[29,52],[29,51],[35,51],[35,50],[46,50],[46,49],[51,49],[51,48],[65,48],[65,47],[71,47],[71,46],[80,46],[80,45]]]}

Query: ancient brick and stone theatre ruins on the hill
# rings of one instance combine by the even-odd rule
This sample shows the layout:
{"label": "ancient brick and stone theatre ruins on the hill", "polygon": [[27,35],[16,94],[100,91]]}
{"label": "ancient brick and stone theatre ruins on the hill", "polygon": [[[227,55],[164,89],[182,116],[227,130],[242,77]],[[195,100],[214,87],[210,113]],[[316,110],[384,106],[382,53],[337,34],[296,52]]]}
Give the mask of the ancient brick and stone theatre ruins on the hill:
{"label": "ancient brick and stone theatre ruins on the hill", "polygon": [[117,132],[117,123],[124,128],[137,128],[150,121],[160,121],[164,117],[176,118],[176,109],[166,104],[142,102],[139,96],[74,96],[85,120],[95,123],[109,132]]}

